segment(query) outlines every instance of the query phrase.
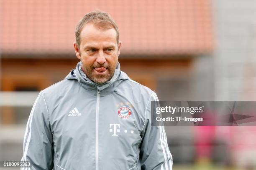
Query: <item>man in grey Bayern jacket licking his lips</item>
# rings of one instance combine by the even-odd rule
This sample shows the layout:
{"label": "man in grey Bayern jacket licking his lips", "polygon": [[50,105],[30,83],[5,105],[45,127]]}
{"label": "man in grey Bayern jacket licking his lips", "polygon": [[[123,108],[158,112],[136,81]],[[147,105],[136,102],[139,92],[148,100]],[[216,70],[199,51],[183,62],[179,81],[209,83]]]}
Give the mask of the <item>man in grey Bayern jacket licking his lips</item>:
{"label": "man in grey Bayern jacket licking his lips", "polygon": [[[121,42],[107,13],[84,15],[69,75],[38,95],[22,160],[32,170],[171,170],[163,126],[151,126],[155,92],[120,71]],[[25,168],[23,168],[25,169]]]}

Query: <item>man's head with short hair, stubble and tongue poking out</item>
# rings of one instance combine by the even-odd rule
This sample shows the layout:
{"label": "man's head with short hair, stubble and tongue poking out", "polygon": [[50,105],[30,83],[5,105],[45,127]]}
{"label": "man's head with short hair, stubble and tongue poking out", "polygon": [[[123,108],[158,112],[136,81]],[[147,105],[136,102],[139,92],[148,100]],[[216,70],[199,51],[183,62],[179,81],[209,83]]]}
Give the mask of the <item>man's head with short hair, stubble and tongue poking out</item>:
{"label": "man's head with short hair, stubble and tongue poking out", "polygon": [[87,77],[103,84],[113,77],[120,54],[115,21],[102,11],[87,13],[76,28],[74,49]]}

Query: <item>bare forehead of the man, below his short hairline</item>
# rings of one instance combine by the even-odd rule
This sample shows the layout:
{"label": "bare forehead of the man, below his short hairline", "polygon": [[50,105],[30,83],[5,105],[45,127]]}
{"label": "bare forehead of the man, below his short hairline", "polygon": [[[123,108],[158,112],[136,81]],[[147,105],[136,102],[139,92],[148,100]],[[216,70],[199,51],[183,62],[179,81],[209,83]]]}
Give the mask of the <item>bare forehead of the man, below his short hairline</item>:
{"label": "bare forehead of the man, below his short hairline", "polygon": [[114,28],[104,29],[97,28],[93,23],[87,23],[82,28],[80,33],[80,44],[85,45],[88,43],[114,43],[117,44],[116,40],[117,33]]}

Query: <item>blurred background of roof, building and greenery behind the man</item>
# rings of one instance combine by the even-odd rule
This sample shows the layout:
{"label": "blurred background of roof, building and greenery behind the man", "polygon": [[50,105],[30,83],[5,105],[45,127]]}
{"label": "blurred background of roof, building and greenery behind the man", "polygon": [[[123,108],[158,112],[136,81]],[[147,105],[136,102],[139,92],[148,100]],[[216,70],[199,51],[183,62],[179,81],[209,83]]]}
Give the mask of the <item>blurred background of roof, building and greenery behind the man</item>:
{"label": "blurred background of roof, building and greenery behind the man", "polygon": [[[33,102],[75,68],[95,9],[118,25],[121,70],[159,100],[256,99],[255,0],[0,0],[0,161],[22,157]],[[254,126],[165,129],[174,170],[256,170]]]}

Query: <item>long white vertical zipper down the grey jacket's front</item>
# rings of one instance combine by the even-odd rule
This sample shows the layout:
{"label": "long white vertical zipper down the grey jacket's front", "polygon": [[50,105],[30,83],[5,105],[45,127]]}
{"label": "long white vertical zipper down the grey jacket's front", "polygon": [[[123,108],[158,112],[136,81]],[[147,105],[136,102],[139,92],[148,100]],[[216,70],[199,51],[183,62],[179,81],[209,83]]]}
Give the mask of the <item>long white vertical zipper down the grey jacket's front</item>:
{"label": "long white vertical zipper down the grey jacket's front", "polygon": [[98,139],[98,128],[99,128],[99,108],[100,108],[100,90],[97,89],[97,102],[96,102],[96,147],[95,147],[95,169],[99,170],[99,139]]}

